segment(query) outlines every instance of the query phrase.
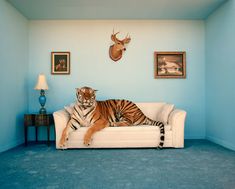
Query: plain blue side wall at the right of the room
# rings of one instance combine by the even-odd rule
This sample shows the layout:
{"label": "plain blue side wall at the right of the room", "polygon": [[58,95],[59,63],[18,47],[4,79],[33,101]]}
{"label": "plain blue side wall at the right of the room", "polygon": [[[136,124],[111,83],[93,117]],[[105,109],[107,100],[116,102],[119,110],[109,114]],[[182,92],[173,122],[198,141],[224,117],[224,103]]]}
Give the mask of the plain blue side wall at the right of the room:
{"label": "plain blue side wall at the right of the room", "polygon": [[206,20],[206,136],[235,150],[235,1]]}

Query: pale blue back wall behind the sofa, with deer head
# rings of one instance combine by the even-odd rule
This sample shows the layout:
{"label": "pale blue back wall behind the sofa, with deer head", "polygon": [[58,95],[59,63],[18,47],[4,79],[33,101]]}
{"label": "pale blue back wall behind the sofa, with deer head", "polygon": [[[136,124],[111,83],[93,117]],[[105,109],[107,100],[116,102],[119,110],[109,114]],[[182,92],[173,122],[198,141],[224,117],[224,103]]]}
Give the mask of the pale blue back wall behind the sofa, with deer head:
{"label": "pale blue back wall behind the sofa, with deer head", "polygon": [[[174,103],[188,113],[186,138],[205,138],[204,21],[30,21],[29,27],[29,111],[39,109],[33,88],[43,72],[48,111],[73,102],[75,88],[88,85],[99,90],[98,99]],[[113,28],[132,38],[118,63],[108,55]],[[50,74],[51,51],[71,52],[70,75]],[[154,79],[154,51],[186,51],[187,78]]]}

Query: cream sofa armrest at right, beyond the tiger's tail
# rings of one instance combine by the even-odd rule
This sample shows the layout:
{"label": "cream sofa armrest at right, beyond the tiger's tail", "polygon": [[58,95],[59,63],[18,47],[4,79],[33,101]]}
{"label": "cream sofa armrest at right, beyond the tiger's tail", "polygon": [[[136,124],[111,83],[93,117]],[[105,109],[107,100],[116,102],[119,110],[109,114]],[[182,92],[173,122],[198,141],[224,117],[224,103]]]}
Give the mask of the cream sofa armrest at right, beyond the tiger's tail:
{"label": "cream sofa armrest at right, beyond the tiger's tail", "polygon": [[172,145],[175,148],[184,147],[184,125],[186,112],[184,110],[175,109],[173,110],[168,119],[169,125],[172,130]]}

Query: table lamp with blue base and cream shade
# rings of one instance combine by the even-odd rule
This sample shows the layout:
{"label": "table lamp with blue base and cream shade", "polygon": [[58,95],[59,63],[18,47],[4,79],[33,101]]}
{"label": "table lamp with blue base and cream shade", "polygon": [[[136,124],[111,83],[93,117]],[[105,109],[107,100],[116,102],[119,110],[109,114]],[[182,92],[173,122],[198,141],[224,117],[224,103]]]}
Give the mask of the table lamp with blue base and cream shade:
{"label": "table lamp with blue base and cream shade", "polygon": [[40,96],[38,98],[39,103],[41,104],[41,108],[39,110],[39,114],[46,114],[46,108],[44,108],[46,104],[46,96],[45,96],[45,90],[48,90],[48,85],[46,81],[46,77],[44,74],[39,74],[38,76],[38,82],[36,86],[34,87],[35,90],[40,90]]}

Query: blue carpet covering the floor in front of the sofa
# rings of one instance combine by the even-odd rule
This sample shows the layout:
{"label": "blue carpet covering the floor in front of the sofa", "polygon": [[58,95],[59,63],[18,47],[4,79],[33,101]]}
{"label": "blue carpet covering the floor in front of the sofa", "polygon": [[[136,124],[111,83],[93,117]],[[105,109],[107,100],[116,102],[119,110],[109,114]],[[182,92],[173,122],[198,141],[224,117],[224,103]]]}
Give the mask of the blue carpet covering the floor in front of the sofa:
{"label": "blue carpet covering the floor in front of the sofa", "polygon": [[0,153],[0,160],[3,189],[235,189],[235,152],[206,140],[163,150],[31,144]]}

